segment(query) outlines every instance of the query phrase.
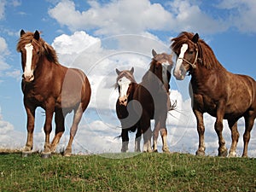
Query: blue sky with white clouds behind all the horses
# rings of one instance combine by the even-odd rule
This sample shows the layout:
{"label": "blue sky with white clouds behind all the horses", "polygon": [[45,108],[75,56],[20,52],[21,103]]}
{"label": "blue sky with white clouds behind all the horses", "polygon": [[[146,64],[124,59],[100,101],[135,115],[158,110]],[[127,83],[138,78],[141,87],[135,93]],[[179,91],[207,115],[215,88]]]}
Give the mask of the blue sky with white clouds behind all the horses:
{"label": "blue sky with white clouds behind all the horses", "polygon": [[[198,32],[228,71],[256,79],[255,9],[254,0],[0,0],[0,148],[20,149],[26,143],[22,70],[20,53],[16,52],[21,29],[41,32],[41,37],[55,48],[62,65],[79,67],[88,76],[92,96],[73,142],[73,152],[102,154],[119,152],[121,148],[121,139],[114,139],[120,134],[115,114],[115,68],[135,67],[135,78],[140,82],[148,70],[151,50],[171,54],[171,39],[188,31]],[[198,136],[188,95],[189,79],[177,81],[172,76],[171,100],[177,100],[177,109],[168,114],[166,125],[171,151],[195,154]],[[208,114],[204,117],[206,153],[217,155],[214,118]],[[58,150],[67,145],[71,119],[72,114],[67,115]],[[43,126],[44,110],[38,108],[34,150],[44,148]],[[251,157],[256,157],[255,126],[248,148]],[[243,119],[239,120],[238,130],[241,137],[236,152],[241,155]],[[130,151],[134,137],[131,134]],[[225,120],[224,138],[230,148],[230,129]]]}

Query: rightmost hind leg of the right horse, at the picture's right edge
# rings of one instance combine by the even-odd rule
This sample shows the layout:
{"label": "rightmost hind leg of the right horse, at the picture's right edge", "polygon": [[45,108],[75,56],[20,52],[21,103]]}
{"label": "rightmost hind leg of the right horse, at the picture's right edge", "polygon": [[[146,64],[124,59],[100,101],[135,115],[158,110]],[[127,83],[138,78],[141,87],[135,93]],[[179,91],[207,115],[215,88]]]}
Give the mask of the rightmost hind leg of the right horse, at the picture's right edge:
{"label": "rightmost hind leg of the right horse, at the picture's right edge", "polygon": [[250,137],[251,137],[250,132],[253,129],[255,117],[256,117],[256,112],[252,112],[250,115],[248,115],[244,118],[246,129],[243,134],[243,142],[244,142],[243,153],[242,153],[243,157],[247,157],[247,148],[248,148],[248,143],[249,143]]}

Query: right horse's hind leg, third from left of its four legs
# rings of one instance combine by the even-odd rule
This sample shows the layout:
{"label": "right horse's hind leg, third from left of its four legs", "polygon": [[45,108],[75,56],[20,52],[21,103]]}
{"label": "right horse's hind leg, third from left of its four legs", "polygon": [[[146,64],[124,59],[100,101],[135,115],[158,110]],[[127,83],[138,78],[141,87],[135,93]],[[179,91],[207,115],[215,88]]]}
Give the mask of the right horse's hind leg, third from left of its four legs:
{"label": "right horse's hind leg, third from left of its four legs", "polygon": [[238,143],[239,132],[237,131],[237,119],[228,120],[230,130],[231,130],[231,138],[232,144],[230,147],[229,157],[236,157],[236,145]]}

